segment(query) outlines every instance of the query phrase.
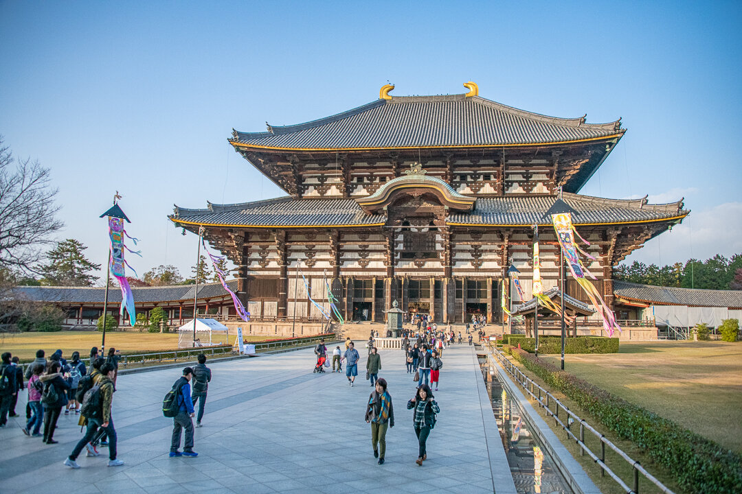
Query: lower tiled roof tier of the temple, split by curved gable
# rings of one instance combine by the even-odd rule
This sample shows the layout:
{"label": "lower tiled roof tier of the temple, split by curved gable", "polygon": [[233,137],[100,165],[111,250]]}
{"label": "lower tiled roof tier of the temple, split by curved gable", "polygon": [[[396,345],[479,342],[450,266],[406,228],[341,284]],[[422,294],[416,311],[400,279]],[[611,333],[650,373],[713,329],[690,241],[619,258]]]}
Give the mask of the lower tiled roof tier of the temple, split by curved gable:
{"label": "lower tiled roof tier of the temple, split by curved gable", "polygon": [[[685,216],[683,203],[646,204],[646,199],[624,201],[564,193],[567,204],[577,211],[575,224],[656,221]],[[453,213],[450,224],[531,225],[545,224],[546,210],[554,197],[478,198],[471,213]],[[387,217],[367,215],[355,199],[276,198],[243,204],[209,204],[209,208],[192,210],[176,207],[172,221],[188,224],[233,225],[243,227],[330,227],[383,224]]]}

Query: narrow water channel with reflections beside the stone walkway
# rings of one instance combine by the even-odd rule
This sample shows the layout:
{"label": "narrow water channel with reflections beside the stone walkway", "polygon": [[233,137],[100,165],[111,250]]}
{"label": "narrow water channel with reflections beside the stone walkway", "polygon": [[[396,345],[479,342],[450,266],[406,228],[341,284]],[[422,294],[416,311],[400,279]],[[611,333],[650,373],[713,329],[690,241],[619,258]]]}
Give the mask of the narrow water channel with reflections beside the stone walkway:
{"label": "narrow water channel with reflections beside the stone walkway", "polygon": [[497,375],[490,374],[485,363],[482,365],[482,374],[490,391],[502,447],[505,448],[518,493],[573,494],[559,470],[554,467],[554,461],[531,435],[529,425],[522,418],[516,404],[510,401],[508,392],[502,387]]}

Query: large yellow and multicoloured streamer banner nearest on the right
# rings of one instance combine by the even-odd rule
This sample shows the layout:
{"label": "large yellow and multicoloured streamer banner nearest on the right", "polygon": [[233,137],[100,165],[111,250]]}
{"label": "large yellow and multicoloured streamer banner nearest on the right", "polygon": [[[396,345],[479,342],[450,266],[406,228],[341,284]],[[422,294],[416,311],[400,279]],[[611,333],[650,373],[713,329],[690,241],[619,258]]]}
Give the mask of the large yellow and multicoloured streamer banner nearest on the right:
{"label": "large yellow and multicoloured streamer banner nearest on the right", "polygon": [[582,290],[585,290],[585,294],[590,299],[593,307],[595,307],[595,310],[600,314],[600,318],[603,319],[603,328],[605,329],[605,332],[608,333],[608,336],[613,336],[614,329],[620,331],[621,327],[618,325],[616,316],[614,316],[611,308],[605,304],[603,297],[598,293],[595,285],[585,278],[585,274],[587,274],[591,278],[595,279],[592,273],[590,273],[590,271],[585,268],[585,265],[582,264],[580,257],[577,256],[577,252],[580,251],[591,259],[594,259],[594,257],[585,253],[580,249],[580,247],[577,247],[577,244],[574,243],[574,237],[572,234],[574,233],[574,235],[577,235],[585,245],[590,245],[590,243],[580,237],[580,234],[577,233],[574,224],[572,224],[572,215],[570,213],[554,214],[551,216],[551,220],[554,222],[554,230],[557,232],[557,240],[559,241],[559,245],[562,247],[562,253],[564,253],[564,257],[567,260],[567,265],[573,278],[578,284],[580,284]]}

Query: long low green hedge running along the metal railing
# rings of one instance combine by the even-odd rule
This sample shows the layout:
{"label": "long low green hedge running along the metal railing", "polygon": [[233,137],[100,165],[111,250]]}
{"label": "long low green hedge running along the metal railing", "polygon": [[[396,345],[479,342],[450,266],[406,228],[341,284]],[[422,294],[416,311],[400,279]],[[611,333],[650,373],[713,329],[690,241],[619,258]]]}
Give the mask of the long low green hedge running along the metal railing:
{"label": "long low green hedge running along the metal railing", "polygon": [[605,427],[642,448],[654,461],[666,467],[683,489],[704,494],[739,492],[741,455],[565,373],[530,353],[511,346],[504,348],[526,369],[576,401]]}

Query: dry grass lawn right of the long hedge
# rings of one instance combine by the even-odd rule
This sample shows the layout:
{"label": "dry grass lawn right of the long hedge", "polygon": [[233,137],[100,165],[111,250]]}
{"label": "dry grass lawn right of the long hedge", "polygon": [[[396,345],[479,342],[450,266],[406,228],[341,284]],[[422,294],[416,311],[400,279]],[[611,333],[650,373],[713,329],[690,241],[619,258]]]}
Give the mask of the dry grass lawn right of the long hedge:
{"label": "dry grass lawn right of the long hedge", "polygon": [[619,353],[566,355],[565,370],[742,453],[742,342],[622,341]]}

